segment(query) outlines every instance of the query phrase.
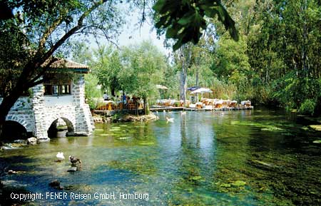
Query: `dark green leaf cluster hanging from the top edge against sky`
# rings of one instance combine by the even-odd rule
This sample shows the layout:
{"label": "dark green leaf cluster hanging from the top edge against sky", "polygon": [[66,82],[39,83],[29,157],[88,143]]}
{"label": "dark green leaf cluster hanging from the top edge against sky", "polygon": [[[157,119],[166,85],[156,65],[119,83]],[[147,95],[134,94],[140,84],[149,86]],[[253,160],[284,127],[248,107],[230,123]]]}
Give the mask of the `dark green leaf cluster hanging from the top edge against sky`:
{"label": "dark green leaf cluster hanging from the top edge against sky", "polygon": [[218,16],[225,29],[238,40],[235,23],[220,1],[158,0],[153,9],[156,11],[156,28],[165,31],[166,38],[177,39],[173,45],[174,51],[189,41],[198,43],[202,31],[207,28],[206,16],[208,18]]}

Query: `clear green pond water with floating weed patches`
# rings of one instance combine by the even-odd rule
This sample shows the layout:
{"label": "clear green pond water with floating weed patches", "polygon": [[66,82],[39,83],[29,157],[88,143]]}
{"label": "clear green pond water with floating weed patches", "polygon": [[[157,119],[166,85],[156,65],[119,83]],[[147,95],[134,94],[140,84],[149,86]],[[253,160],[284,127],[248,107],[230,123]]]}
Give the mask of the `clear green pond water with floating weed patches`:
{"label": "clear green pond water with floating weed patches", "polygon": [[[91,137],[1,151],[6,184],[31,192],[115,192],[116,200],[44,200],[34,205],[321,205],[320,133],[268,110],[158,113],[151,123],[97,124]],[[165,116],[174,118],[167,123]],[[75,155],[81,170],[67,172]],[[68,190],[56,190],[59,180]],[[118,193],[148,193],[119,200]]]}

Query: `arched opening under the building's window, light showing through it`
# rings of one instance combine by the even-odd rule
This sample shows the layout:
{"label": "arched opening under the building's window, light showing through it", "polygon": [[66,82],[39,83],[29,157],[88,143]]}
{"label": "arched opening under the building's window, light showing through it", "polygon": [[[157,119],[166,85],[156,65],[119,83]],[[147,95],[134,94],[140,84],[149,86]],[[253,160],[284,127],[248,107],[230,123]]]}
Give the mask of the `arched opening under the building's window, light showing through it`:
{"label": "arched opening under the building's window, light showing through it", "polygon": [[57,118],[51,123],[47,133],[49,138],[64,138],[74,132],[73,123],[67,118]]}

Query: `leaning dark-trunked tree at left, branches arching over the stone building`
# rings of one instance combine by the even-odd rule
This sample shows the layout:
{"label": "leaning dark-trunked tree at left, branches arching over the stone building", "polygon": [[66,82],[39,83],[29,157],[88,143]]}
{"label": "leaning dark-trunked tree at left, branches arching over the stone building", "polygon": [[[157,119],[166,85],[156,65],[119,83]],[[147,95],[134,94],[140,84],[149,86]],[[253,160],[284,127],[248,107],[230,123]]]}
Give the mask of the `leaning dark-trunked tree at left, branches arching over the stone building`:
{"label": "leaning dark-trunked tree at left, branches arching over the stone building", "polygon": [[96,34],[111,38],[122,22],[117,1],[4,3],[18,11],[15,18],[0,20],[0,76],[10,81],[10,86],[1,82],[0,135],[11,106],[24,91],[44,81],[41,76],[56,61],[54,55],[59,49],[66,51],[72,36]]}

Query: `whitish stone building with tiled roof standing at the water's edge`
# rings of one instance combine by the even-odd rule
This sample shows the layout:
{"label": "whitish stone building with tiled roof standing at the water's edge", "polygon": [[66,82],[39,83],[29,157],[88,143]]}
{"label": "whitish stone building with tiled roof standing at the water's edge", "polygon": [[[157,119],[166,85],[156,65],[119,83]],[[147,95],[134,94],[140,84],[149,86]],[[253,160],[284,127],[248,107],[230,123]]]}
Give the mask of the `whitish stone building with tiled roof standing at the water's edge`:
{"label": "whitish stone building with tiled roof standing at the water's edge", "polygon": [[80,63],[63,59],[54,62],[42,77],[45,82],[16,101],[6,123],[19,123],[28,136],[38,140],[49,140],[49,129],[56,126],[58,119],[66,123],[68,135],[90,135],[94,124],[85,103],[84,75],[88,72],[88,66]]}

